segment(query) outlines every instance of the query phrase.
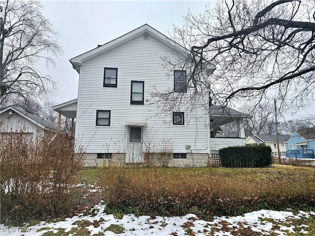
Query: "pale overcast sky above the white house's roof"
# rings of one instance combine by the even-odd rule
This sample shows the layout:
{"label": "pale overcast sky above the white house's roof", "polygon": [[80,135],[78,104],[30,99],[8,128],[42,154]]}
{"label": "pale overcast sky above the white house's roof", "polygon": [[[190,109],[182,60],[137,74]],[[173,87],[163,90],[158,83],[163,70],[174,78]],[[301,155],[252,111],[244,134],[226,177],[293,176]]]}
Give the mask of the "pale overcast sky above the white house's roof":
{"label": "pale overcast sky above the white house's roof", "polygon": [[[210,1],[214,4],[214,1]],[[183,16],[190,10],[203,13],[207,1],[46,1],[44,15],[60,34],[63,55],[57,58],[56,68],[40,66],[43,74],[52,76],[58,92],[51,100],[63,103],[77,98],[79,74],[69,59],[85,53],[144,24],[165,35],[172,24],[183,25]],[[294,118],[314,116],[315,103],[296,113]],[[288,119],[293,118],[291,115]]]}

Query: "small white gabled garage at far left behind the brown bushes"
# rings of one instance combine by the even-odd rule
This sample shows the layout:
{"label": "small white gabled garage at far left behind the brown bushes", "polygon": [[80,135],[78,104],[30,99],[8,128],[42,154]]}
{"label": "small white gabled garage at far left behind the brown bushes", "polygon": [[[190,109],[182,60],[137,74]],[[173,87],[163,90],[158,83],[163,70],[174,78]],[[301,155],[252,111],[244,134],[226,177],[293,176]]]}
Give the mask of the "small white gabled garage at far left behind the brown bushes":
{"label": "small white gabled garage at far left behind the brown bushes", "polygon": [[47,132],[55,133],[57,124],[31,113],[12,106],[5,107],[0,111],[1,135],[12,135],[23,132],[30,138],[36,135],[45,135]]}

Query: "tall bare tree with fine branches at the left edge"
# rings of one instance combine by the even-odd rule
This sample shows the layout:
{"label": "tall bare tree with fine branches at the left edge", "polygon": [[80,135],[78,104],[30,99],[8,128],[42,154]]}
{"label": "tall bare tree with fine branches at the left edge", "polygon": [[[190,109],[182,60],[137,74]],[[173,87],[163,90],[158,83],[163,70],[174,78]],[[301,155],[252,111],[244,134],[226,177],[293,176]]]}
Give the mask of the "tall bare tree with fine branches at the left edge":
{"label": "tall bare tree with fine branches at the left edge", "polygon": [[54,88],[54,81],[35,65],[42,60],[55,65],[62,53],[58,33],[42,15],[37,1],[6,0],[0,3],[1,104],[13,97],[38,96]]}

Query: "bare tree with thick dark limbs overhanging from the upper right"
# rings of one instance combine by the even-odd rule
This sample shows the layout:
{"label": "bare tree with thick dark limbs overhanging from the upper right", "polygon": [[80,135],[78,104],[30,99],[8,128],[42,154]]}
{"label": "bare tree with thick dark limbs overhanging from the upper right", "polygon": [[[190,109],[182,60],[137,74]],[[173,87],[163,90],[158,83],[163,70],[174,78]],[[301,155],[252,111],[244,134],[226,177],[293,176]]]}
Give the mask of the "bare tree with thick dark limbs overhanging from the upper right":
{"label": "bare tree with thick dark limbs overhanging from the upper right", "polygon": [[[188,13],[173,39],[190,48],[188,85],[208,86],[212,103],[272,95],[302,106],[315,90],[315,1],[225,0],[203,15]],[[211,81],[204,71],[216,70]],[[193,99],[191,99],[193,100]],[[198,100],[198,99],[197,99]],[[281,104],[280,104],[281,107]]]}

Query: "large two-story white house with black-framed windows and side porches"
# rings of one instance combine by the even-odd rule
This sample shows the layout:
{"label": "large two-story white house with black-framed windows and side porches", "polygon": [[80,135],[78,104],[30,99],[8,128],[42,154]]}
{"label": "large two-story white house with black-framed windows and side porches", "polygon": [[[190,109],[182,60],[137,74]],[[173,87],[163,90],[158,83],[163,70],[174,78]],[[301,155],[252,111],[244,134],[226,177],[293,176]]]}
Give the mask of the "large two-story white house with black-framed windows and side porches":
{"label": "large two-story white house with black-framed windows and side porches", "polygon": [[[87,153],[87,165],[100,164],[104,157],[130,164],[206,166],[211,151],[245,145],[242,119],[248,115],[226,107],[209,109],[208,94],[200,103],[185,100],[186,70],[176,67],[185,53],[143,25],[70,59],[79,73],[78,98],[53,109],[76,118],[76,146]],[[165,58],[175,64],[171,71]],[[174,96],[183,95],[183,103],[162,111],[154,94],[172,90]],[[211,129],[232,121],[240,124],[240,138],[210,139]]]}

